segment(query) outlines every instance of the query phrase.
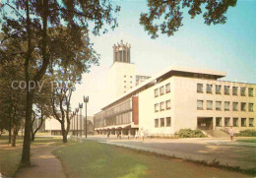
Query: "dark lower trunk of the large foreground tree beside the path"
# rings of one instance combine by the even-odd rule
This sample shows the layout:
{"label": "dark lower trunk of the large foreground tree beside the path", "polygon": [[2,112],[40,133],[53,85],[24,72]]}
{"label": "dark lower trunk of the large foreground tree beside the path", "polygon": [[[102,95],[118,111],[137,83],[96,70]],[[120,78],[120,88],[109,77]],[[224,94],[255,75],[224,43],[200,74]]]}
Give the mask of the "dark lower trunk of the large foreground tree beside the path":
{"label": "dark lower trunk of the large foreground tree beside the path", "polygon": [[31,133],[32,133],[32,100],[33,92],[27,90],[27,104],[26,104],[26,122],[25,122],[25,135],[23,143],[23,155],[21,163],[24,165],[31,165]]}

